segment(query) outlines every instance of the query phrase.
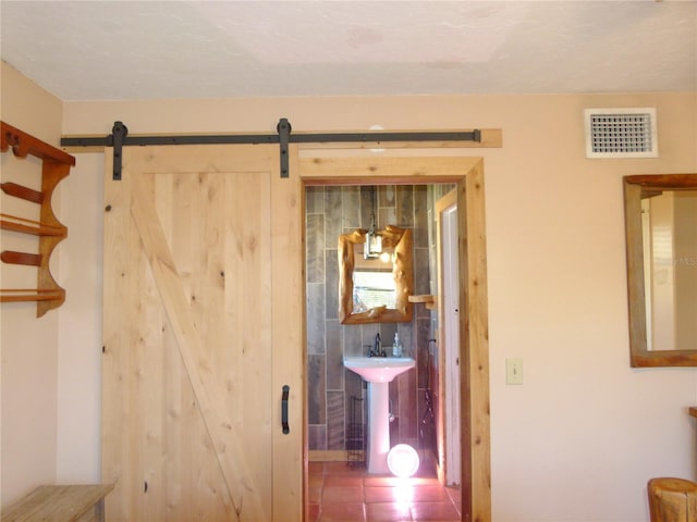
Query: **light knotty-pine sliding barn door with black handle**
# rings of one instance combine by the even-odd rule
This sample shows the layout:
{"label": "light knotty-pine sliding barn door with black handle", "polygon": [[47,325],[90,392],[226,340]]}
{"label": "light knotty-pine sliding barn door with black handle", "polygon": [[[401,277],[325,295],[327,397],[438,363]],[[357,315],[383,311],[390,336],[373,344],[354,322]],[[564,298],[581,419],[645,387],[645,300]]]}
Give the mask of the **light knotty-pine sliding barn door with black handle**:
{"label": "light knotty-pine sliding barn door with black handle", "polygon": [[108,151],[107,519],[299,521],[297,169],[280,177],[278,146],[125,147],[121,181],[111,165]]}

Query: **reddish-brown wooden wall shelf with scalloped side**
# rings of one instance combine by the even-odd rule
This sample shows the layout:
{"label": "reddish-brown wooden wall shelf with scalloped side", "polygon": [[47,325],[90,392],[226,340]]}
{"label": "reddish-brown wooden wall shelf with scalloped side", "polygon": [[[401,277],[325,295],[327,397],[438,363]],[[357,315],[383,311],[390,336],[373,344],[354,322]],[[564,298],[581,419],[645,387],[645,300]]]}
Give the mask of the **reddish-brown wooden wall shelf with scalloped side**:
{"label": "reddish-brown wooden wall shelf with scalloped side", "polygon": [[7,152],[12,149],[16,158],[25,159],[33,156],[41,160],[41,190],[34,190],[16,183],[0,184],[0,188],[8,196],[40,207],[39,221],[0,214],[0,229],[39,237],[38,253],[9,250],[0,253],[4,263],[37,268],[36,288],[2,288],[0,302],[36,301],[36,316],[40,318],[65,301],[65,290],[51,275],[50,258],[53,249],[68,236],[68,228],[56,217],[51,208],[51,197],[58,184],[70,174],[75,158],[4,122],[0,122],[0,151]]}

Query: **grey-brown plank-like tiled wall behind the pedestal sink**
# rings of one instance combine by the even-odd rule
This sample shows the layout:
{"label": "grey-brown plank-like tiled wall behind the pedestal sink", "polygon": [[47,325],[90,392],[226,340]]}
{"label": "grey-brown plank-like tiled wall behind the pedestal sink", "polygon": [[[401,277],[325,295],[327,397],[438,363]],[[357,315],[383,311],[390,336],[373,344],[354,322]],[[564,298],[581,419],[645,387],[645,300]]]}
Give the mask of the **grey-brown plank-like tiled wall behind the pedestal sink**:
{"label": "grey-brown plank-like tiled wall behind the pedestal sink", "polygon": [[[442,190],[437,190],[442,192]],[[374,187],[307,187],[307,389],[309,449],[345,449],[352,419],[352,397],[365,398],[365,384],[345,370],[343,357],[365,355],[377,333],[389,347],[399,332],[405,355],[417,361],[415,370],[390,383],[391,443],[420,445],[419,421],[428,383],[427,346],[432,337],[431,314],[415,304],[409,323],[342,325],[338,320],[337,241],[340,234],[369,228],[375,194],[377,226],[412,228],[414,237],[414,293],[432,294],[429,264],[435,259],[429,243],[433,190],[425,185]],[[433,263],[435,265],[435,263]],[[433,282],[435,284],[435,282]],[[432,380],[431,380],[432,384]],[[360,402],[358,405],[362,405]],[[365,405],[365,401],[363,402]],[[356,421],[364,422],[363,412]]]}

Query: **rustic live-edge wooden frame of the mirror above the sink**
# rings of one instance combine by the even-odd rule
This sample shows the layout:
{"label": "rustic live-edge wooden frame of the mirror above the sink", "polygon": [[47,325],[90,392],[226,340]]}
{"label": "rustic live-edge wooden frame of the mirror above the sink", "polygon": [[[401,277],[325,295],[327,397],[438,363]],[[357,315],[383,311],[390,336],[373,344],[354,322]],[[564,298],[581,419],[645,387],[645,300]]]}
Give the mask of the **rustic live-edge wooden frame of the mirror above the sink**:
{"label": "rustic live-edge wooden frame of the mirror above the sink", "polygon": [[368,231],[357,228],[339,236],[339,321],[341,324],[399,323],[412,321],[412,303],[408,297],[414,287],[414,260],[412,231],[387,225],[378,234],[383,248],[394,248],[392,275],[394,277],[395,308],[376,307],[353,313],[354,245],[366,240]]}

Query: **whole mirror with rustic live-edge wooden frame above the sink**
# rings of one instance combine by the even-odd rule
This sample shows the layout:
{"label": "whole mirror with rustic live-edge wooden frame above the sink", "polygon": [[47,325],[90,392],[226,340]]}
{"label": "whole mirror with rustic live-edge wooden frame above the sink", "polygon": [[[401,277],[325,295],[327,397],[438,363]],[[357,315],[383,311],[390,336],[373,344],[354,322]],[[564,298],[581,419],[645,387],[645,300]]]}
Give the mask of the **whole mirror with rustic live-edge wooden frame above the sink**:
{"label": "whole mirror with rustic live-edge wooden frame above the sink", "polygon": [[364,259],[367,233],[358,228],[339,236],[339,321],[342,324],[411,321],[412,232],[393,225],[378,231],[383,260]]}

